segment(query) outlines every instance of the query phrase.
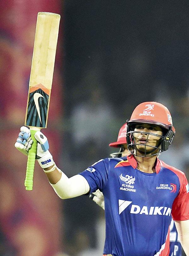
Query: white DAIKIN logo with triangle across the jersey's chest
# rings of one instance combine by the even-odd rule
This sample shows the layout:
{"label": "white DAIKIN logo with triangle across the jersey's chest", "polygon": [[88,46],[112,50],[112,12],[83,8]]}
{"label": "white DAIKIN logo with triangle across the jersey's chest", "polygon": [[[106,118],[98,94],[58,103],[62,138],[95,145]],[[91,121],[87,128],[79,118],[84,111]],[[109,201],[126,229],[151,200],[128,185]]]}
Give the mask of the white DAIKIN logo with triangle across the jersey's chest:
{"label": "white DAIKIN logo with triangle across the jersey's chest", "polygon": [[[125,201],[119,199],[119,214],[121,214],[130,204],[132,201]],[[164,207],[164,206],[142,206],[132,204],[131,207],[129,207],[129,211],[131,214],[145,214],[145,215],[165,215],[170,216],[171,214],[171,208]]]}

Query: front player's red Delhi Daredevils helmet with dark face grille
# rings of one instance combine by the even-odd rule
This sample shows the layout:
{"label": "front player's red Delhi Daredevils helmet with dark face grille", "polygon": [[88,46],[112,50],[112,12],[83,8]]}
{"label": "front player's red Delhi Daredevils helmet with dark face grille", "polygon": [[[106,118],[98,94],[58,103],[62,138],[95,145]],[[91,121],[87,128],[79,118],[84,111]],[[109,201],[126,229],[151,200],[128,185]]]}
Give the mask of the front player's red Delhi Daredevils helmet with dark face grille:
{"label": "front player's red Delhi Daredevils helmet with dark face grille", "polygon": [[[135,125],[137,123],[147,123],[158,125],[163,129],[163,135],[160,137],[159,145],[157,147],[152,147],[152,153],[157,148],[159,148],[159,154],[169,148],[172,143],[173,137],[175,135],[175,128],[173,127],[171,114],[163,104],[158,102],[142,102],[133,111],[130,120],[127,120],[127,144],[129,151],[133,153],[133,149],[136,149],[135,138],[133,136]],[[148,136],[153,133],[146,133]],[[145,145],[146,146],[146,145]],[[151,154],[156,155],[156,154]],[[145,155],[146,156],[146,149]]]}

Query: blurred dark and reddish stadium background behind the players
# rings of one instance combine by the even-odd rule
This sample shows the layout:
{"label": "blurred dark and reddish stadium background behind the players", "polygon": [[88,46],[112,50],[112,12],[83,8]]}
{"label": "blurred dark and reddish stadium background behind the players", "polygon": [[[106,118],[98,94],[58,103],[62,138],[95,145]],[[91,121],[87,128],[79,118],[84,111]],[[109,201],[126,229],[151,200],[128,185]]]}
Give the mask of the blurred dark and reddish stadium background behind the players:
{"label": "blurred dark and reddish stadium background behind the players", "polygon": [[60,200],[39,167],[33,191],[23,185],[26,158],[14,142],[24,124],[37,12],[62,17],[44,131],[60,169],[71,177],[109,157],[108,144],[136,105],[157,101],[176,129],[160,159],[189,179],[187,2],[8,2],[0,3],[0,255],[101,255],[104,212],[88,196]]}

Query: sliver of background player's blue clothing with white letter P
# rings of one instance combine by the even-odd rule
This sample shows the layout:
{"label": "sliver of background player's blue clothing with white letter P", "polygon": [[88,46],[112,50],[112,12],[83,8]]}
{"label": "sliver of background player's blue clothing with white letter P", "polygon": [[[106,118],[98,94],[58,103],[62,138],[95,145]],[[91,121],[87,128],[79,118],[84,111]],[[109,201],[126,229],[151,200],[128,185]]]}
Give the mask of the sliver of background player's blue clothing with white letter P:
{"label": "sliver of background player's blue clothing with white letter P", "polygon": [[171,224],[170,224],[170,252],[169,256],[181,256],[182,251],[181,251],[181,244],[180,241],[178,240],[178,233],[175,227],[175,222],[172,219]]}

